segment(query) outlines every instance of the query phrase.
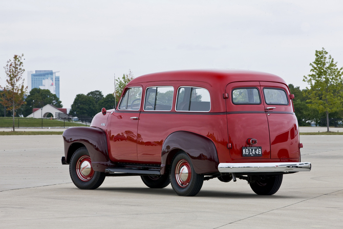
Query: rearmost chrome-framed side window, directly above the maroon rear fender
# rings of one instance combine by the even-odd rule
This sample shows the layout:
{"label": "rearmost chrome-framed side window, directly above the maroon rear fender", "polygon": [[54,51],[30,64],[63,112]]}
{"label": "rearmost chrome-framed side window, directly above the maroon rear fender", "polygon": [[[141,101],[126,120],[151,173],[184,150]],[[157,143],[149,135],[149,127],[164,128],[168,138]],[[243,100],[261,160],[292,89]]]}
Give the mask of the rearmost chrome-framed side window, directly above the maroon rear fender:
{"label": "rearmost chrome-framed side window, directly above the maroon rear fender", "polygon": [[177,95],[177,111],[209,111],[209,92],[204,88],[180,87]]}

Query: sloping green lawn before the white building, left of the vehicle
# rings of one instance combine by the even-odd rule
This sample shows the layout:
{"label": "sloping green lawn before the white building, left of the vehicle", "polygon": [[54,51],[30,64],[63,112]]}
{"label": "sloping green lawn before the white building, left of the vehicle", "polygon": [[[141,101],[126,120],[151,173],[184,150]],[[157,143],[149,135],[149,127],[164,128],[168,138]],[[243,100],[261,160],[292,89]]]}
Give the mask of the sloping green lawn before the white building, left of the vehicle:
{"label": "sloping green lawn before the white building, left of the vehicle", "polygon": [[[41,118],[14,118],[14,126],[17,127],[41,127]],[[89,124],[87,125],[89,126]],[[13,127],[12,117],[0,117],[0,128]],[[49,118],[43,118],[43,127],[85,127],[85,124],[69,121],[61,121]]]}

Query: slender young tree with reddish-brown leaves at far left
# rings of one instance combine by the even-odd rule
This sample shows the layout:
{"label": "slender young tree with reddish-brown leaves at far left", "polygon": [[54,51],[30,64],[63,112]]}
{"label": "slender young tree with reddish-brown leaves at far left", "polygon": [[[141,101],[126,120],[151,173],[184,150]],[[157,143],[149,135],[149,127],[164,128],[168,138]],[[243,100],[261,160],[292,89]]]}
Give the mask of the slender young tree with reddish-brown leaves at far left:
{"label": "slender young tree with reddish-brown leaves at far left", "polygon": [[22,77],[25,69],[23,68],[22,57],[24,54],[14,55],[13,61],[10,59],[7,61],[4,67],[7,76],[5,87],[0,86],[0,90],[3,90],[2,105],[7,107],[7,110],[12,110],[13,116],[13,131],[14,128],[14,116],[15,111],[22,106],[24,101],[24,94],[27,92],[27,87],[24,87],[24,79]]}

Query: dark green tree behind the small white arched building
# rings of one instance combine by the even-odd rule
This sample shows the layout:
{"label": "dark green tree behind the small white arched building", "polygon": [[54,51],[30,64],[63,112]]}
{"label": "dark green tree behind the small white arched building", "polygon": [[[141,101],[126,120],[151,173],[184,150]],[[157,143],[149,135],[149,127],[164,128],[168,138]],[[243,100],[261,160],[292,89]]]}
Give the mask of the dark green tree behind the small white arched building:
{"label": "dark green tree behind the small white arched building", "polygon": [[56,108],[63,107],[57,95],[51,93],[48,89],[33,88],[25,101],[26,104],[21,111],[24,117],[30,115],[33,108],[42,108],[48,104],[51,104]]}

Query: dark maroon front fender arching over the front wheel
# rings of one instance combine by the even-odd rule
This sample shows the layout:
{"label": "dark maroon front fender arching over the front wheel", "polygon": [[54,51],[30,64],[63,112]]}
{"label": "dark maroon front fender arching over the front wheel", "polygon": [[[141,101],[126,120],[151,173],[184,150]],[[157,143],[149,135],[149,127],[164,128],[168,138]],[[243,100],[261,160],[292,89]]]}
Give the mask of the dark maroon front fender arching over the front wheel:
{"label": "dark maroon front fender arching over the front wheel", "polygon": [[70,163],[75,150],[86,147],[95,171],[104,172],[114,166],[109,158],[109,137],[105,131],[95,127],[72,127],[63,132],[66,162]]}

